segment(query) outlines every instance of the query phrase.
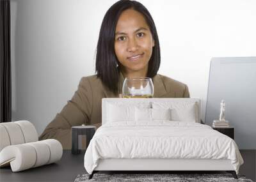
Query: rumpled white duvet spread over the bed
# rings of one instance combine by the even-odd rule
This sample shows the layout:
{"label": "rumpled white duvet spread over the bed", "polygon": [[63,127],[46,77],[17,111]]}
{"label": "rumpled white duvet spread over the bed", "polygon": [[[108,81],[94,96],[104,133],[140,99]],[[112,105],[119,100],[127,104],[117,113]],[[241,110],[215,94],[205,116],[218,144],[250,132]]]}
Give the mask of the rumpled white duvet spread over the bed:
{"label": "rumpled white duvet spread over the bed", "polygon": [[92,174],[99,159],[106,158],[229,159],[237,174],[243,164],[230,137],[207,125],[177,121],[100,126],[84,155],[86,171]]}

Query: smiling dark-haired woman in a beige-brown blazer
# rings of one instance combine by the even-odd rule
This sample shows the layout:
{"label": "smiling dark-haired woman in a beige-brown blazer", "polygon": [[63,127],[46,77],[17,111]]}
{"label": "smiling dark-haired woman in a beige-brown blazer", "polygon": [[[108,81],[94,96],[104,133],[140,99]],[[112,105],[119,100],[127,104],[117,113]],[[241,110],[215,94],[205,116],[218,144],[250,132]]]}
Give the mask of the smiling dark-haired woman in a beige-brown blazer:
{"label": "smiling dark-haired woman in a beige-brown blazer", "polygon": [[102,98],[118,97],[125,77],[151,77],[155,98],[189,97],[188,86],[157,74],[160,48],[148,10],[136,1],[122,0],[106,12],[97,45],[97,75],[83,77],[67,105],[40,136],[71,148],[71,126],[101,125]]}

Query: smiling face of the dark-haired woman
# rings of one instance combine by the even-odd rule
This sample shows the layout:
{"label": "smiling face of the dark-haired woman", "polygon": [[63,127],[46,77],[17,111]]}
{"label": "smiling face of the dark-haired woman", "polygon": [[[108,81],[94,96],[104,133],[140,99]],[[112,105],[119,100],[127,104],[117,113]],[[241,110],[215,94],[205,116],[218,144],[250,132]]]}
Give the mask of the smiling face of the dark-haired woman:
{"label": "smiling face of the dark-haired woman", "polygon": [[153,47],[154,40],[143,15],[132,9],[123,11],[115,32],[115,54],[122,64],[121,70],[147,74]]}

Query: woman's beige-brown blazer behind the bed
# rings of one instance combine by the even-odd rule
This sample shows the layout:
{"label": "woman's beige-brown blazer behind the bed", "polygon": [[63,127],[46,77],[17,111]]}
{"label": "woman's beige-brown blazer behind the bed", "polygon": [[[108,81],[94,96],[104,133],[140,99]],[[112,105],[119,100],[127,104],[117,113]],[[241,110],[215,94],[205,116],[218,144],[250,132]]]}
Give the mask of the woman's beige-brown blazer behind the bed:
{"label": "woman's beige-brown blazer behind the bed", "polygon": [[[157,74],[153,79],[154,98],[188,98],[189,91],[186,84]],[[122,92],[124,77],[120,73],[118,89]],[[71,149],[71,126],[101,125],[102,98],[118,98],[104,86],[96,75],[83,77],[78,89],[67,105],[47,125],[39,139],[57,139],[63,149]]]}

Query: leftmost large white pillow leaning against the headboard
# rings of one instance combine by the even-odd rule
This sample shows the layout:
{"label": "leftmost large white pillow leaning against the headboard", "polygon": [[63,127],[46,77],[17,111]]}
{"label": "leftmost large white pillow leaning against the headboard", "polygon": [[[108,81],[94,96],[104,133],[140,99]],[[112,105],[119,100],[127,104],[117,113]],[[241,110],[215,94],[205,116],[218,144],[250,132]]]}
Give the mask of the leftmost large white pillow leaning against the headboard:
{"label": "leftmost large white pillow leaning against the headboard", "polygon": [[107,122],[134,121],[135,107],[108,104]]}

